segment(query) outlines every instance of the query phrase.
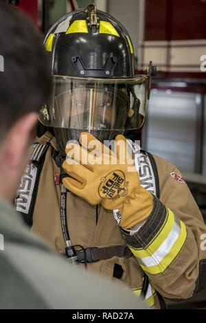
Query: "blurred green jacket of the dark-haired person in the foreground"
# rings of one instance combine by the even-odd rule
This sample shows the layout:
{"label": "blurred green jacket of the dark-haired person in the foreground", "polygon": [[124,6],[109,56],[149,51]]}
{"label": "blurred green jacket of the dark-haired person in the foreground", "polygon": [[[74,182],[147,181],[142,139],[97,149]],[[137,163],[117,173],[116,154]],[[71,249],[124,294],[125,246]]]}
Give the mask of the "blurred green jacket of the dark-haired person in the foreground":
{"label": "blurred green jacket of the dark-haired person in the foreground", "polygon": [[0,309],[139,309],[130,291],[73,267],[0,199]]}

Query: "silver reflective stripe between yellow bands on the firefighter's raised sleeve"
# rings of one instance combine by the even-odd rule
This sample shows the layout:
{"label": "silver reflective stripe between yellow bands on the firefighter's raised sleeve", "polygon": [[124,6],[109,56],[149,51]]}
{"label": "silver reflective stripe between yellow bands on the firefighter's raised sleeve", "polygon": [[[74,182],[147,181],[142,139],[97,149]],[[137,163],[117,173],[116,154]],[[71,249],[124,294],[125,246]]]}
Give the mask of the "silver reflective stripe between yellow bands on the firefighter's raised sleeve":
{"label": "silver reflective stripe between yellow bands on the firefighter's raised sleeve", "polygon": [[165,238],[165,241],[157,249],[157,251],[154,252],[152,256],[137,258],[138,263],[146,267],[159,265],[159,263],[161,263],[161,260],[163,260],[163,258],[165,258],[165,256],[167,256],[167,254],[170,253],[170,250],[172,249],[174,243],[176,242],[176,239],[179,238],[180,232],[181,232],[181,223],[179,219],[175,218],[174,225],[172,226],[172,230],[168,234],[167,238]]}

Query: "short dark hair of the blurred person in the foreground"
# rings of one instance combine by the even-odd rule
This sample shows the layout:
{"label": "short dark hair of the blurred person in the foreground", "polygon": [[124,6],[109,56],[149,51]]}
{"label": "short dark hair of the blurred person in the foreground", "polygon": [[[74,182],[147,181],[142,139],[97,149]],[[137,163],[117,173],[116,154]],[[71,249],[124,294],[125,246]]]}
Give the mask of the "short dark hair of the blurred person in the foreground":
{"label": "short dark hair of the blurred person in the foreground", "polygon": [[0,56],[1,137],[21,116],[41,109],[52,89],[43,37],[21,10],[1,1]]}

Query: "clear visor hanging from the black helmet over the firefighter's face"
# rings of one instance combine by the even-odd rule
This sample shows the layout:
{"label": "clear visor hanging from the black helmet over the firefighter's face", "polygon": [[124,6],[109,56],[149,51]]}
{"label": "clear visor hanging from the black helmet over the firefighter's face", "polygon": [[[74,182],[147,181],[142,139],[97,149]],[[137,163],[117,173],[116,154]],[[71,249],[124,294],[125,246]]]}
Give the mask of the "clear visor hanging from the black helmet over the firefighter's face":
{"label": "clear visor hanging from the black helmet over the firefighter's face", "polygon": [[148,78],[88,79],[54,76],[51,104],[39,120],[58,129],[124,131],[144,123]]}

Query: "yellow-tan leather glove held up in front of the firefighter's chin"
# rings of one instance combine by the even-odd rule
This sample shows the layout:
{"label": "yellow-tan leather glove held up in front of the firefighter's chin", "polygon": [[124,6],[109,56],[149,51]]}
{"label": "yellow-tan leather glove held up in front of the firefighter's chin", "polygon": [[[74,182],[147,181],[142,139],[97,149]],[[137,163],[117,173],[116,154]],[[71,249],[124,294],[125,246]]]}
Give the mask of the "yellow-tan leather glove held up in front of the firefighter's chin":
{"label": "yellow-tan leather glove held up in front of the firefighter's chin", "polygon": [[[152,194],[140,185],[123,135],[115,138],[113,151],[97,141],[90,133],[82,133],[81,146],[67,146],[62,168],[69,177],[62,180],[63,185],[91,205],[101,203],[107,210],[119,209],[120,226],[130,229],[152,212]],[[97,145],[92,149],[94,142]]]}

